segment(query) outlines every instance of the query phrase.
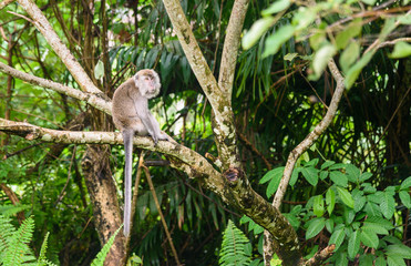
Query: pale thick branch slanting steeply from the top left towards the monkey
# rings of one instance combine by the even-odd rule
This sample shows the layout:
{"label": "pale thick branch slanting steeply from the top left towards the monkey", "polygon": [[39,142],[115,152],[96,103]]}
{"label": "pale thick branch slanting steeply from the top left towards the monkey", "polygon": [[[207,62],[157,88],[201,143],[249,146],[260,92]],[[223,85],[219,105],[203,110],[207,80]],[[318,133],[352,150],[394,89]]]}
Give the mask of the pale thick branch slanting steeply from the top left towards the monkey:
{"label": "pale thick branch slanting steeply from the top left towards the monkey", "polygon": [[60,40],[50,22],[43,16],[39,7],[32,0],[18,0],[19,4],[30,14],[35,28],[43,34],[54,52],[63,61],[74,80],[78,82],[82,91],[102,94],[103,93],[93,84],[89,75],[84,72],[81,64],[74,59],[70,50]]}

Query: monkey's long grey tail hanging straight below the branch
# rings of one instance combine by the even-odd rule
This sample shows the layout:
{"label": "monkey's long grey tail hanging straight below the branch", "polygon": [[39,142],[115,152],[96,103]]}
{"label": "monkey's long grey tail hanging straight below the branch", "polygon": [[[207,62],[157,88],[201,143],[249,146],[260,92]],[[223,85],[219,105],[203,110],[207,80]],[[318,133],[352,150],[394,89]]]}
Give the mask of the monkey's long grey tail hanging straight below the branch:
{"label": "monkey's long grey tail hanging straight below the branch", "polygon": [[133,170],[133,136],[134,132],[123,131],[125,167],[124,167],[124,236],[130,235],[131,202],[132,202],[132,170]]}

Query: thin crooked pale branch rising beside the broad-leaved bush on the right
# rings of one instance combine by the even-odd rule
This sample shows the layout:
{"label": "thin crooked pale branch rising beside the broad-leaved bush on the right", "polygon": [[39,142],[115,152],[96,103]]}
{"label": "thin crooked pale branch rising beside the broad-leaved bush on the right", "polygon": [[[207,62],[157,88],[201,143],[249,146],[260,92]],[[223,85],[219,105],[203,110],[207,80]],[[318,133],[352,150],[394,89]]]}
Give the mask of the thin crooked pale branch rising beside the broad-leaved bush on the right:
{"label": "thin crooked pale branch rising beside the broad-leaved bush on the right", "polygon": [[295,166],[298,157],[305,151],[307,151],[312,145],[312,143],[328,129],[328,126],[332,122],[333,116],[337,113],[338,103],[340,102],[341,96],[342,96],[342,92],[345,90],[345,84],[343,84],[345,79],[342,78],[340,71],[338,70],[333,59],[331,59],[330,62],[328,63],[328,68],[331,71],[331,74],[332,74],[332,76],[333,76],[333,79],[336,80],[336,83],[337,83],[336,91],[335,91],[335,93],[332,95],[332,99],[331,99],[331,103],[328,106],[328,111],[327,111],[326,115],[323,116],[323,119],[321,120],[321,122],[289,154],[287,163],[286,163],[286,167],[284,170],[281,182],[278,186],[276,196],[275,196],[274,202],[273,202],[274,206],[276,206],[276,207],[279,207],[281,205],[284,195],[286,193],[289,180],[290,180],[291,174],[292,174],[294,166]]}

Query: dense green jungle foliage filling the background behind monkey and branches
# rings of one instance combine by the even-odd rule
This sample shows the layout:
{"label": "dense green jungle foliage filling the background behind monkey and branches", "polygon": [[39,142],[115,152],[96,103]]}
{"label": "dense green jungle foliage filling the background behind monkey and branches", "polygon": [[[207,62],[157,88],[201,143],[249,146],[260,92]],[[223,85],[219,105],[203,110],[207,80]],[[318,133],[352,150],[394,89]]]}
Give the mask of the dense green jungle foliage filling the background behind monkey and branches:
{"label": "dense green jungle foliage filling the background behind monkey and branches", "polygon": [[[156,69],[162,95],[151,102],[151,109],[162,129],[186,147],[209,154],[207,158],[218,156],[210,104],[162,1],[35,3],[110,99],[136,70]],[[181,3],[218,76],[233,1]],[[347,90],[331,125],[297,161],[280,211],[296,229],[305,258],[336,244],[329,260],[333,265],[405,265],[404,259],[411,259],[409,2],[335,0],[306,6],[280,0],[270,4],[249,2],[232,99],[239,160],[253,188],[273,201],[289,153],[328,110],[336,83],[327,63],[333,58]],[[79,89],[19,3],[0,9],[0,35],[1,63]],[[53,130],[114,131],[110,115],[83,101],[3,71],[0,88],[2,119]],[[123,147],[47,143],[4,131],[0,140],[0,205],[8,206],[0,208],[4,215],[0,218],[10,215],[10,205],[22,205],[14,208],[10,223],[17,228],[34,226],[30,254],[56,265],[90,265],[105,235],[94,224],[92,184],[85,176],[90,165],[99,165],[96,182],[116,184],[117,205],[111,208],[122,206]],[[140,152],[134,151],[135,164]],[[144,160],[155,165],[165,157],[147,152]],[[155,195],[181,263],[229,265],[229,255],[240,254],[246,265],[263,264],[259,225],[204,190],[201,180],[164,165],[151,166],[150,173],[155,192],[144,174],[138,184],[130,242],[135,262],[137,256],[144,265],[175,262]],[[11,227],[4,232],[14,232]],[[0,232],[0,248],[1,236]],[[45,255],[41,253],[44,239]],[[236,239],[245,250],[232,248]]]}

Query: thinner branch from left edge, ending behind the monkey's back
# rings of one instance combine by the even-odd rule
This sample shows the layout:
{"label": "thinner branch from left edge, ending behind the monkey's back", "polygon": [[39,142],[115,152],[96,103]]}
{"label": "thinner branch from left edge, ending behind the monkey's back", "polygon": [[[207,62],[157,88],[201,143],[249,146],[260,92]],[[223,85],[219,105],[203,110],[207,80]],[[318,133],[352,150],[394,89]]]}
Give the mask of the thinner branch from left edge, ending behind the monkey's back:
{"label": "thinner branch from left edge, ending behind the monkey's back", "polygon": [[7,64],[3,64],[0,62],[0,71],[12,75],[14,78],[18,78],[20,80],[23,80],[25,82],[29,82],[30,84],[40,85],[50,90],[53,90],[55,92],[62,93],[64,95],[78,99],[80,101],[84,101],[89,103],[90,105],[111,114],[111,102],[107,99],[101,98],[101,95],[96,95],[89,92],[82,92],[80,90],[62,85],[61,83],[53,82],[50,80],[41,79],[35,75],[27,74],[21,71],[18,71],[17,69],[10,68]]}

